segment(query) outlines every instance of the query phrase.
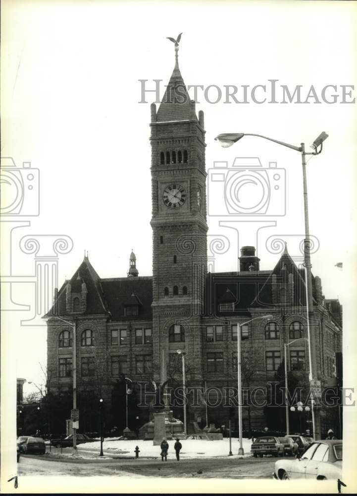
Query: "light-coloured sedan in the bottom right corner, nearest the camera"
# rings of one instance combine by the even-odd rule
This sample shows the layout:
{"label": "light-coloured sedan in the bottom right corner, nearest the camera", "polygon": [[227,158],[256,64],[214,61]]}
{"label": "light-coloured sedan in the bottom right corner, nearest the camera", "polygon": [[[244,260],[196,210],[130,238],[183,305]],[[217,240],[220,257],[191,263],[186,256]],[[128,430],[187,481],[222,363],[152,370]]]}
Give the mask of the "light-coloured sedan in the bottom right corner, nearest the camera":
{"label": "light-coloured sedan in the bottom right corner, nearest the camera", "polygon": [[342,477],[342,440],[312,442],[295,459],[275,462],[274,479],[340,479]]}

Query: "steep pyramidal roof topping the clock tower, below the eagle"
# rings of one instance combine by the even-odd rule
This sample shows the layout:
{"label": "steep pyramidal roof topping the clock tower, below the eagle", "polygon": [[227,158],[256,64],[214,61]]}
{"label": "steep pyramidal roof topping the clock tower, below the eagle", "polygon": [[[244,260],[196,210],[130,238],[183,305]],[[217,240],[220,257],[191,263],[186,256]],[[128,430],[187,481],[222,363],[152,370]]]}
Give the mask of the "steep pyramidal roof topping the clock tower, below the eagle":
{"label": "steep pyramidal roof topping the clock tower, below the eagle", "polygon": [[156,122],[197,121],[195,103],[191,101],[178,62],[171,74],[164,97],[156,114]]}

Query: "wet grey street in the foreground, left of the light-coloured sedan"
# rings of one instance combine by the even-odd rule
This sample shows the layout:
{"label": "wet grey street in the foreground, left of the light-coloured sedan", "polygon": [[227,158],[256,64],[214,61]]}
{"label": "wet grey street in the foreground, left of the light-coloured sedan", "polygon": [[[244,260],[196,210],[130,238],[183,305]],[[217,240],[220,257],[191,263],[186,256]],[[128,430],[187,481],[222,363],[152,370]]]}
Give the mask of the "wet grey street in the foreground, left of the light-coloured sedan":
{"label": "wet grey street in the foreground, left of the light-coloured sedan", "polygon": [[[18,475],[116,475],[119,477],[195,477],[223,479],[270,479],[276,458],[208,458],[195,460],[49,460],[21,456]],[[199,473],[202,472],[202,473]]]}

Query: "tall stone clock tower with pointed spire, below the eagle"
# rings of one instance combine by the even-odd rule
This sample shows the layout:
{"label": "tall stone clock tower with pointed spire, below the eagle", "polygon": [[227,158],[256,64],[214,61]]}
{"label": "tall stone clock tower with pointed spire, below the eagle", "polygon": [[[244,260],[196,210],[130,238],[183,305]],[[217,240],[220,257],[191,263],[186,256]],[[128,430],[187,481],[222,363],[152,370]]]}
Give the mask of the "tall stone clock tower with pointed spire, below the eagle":
{"label": "tall stone clock tower with pointed spire, below the eagle", "polygon": [[155,379],[165,381],[180,349],[191,384],[201,385],[208,229],[204,113],[197,118],[178,66],[178,44],[175,52],[163,100],[157,112],[151,106],[153,368]]}

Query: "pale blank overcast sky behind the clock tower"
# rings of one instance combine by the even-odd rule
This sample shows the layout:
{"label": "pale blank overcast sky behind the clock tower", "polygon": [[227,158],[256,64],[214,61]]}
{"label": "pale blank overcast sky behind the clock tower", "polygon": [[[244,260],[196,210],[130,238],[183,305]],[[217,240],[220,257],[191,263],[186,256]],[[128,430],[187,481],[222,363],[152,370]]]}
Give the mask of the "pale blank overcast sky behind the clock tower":
{"label": "pale blank overcast sky behind the clock tower", "polygon": [[[348,305],[354,283],[345,276],[346,267],[356,264],[357,124],[356,103],[341,103],[341,85],[357,86],[354,9],[355,2],[4,2],[1,156],[13,157],[17,167],[30,161],[40,171],[40,215],[19,218],[31,225],[13,233],[11,275],[19,280],[34,275],[34,255],[21,252],[19,240],[50,234],[73,240],[73,249],[59,256],[59,286],[73,275],[84,249],[101,277],[125,277],[132,248],[139,275],[152,274],[149,124],[154,94],[147,94],[148,103],[139,103],[139,80],[147,79],[147,89],[154,89],[153,80],[161,79],[163,95],[174,66],[173,44],[166,37],[183,32],[179,65],[186,85],[215,85],[223,92],[217,103],[209,103],[198,91],[207,171],[215,161],[231,166],[236,157],[258,157],[263,168],[277,162],[286,174],[286,215],[271,211],[268,218],[237,223],[239,245],[234,230],[219,226],[232,218],[208,216],[208,234],[230,240],[229,250],[216,256],[215,270],[237,269],[239,246],[256,246],[257,226],[267,220],[270,227],[258,236],[260,268],[272,269],[278,261],[279,253],[266,247],[271,236],[286,240],[296,256],[294,240],[303,239],[304,216],[298,152],[254,137],[223,149],[214,137],[256,133],[297,146],[305,142],[310,151],[312,141],[326,131],[323,152],[307,164],[310,233],[319,240],[312,271],[321,277],[326,298],[339,297]],[[270,79],[278,80],[277,101],[282,100],[281,85],[291,93],[301,85],[303,101],[313,85],[322,103],[313,98],[307,104],[268,103]],[[237,86],[238,98],[242,86],[249,86],[249,103],[224,103],[225,85]],[[266,85],[265,103],[253,101],[255,85]],[[337,94],[337,103],[322,101],[326,85],[337,86],[326,93]],[[210,101],[217,91],[212,87],[206,93]],[[257,89],[257,98],[262,95]],[[356,97],[352,90],[345,100]],[[209,207],[218,212],[215,201],[208,197]],[[274,201],[279,205],[279,199]],[[344,263],[345,272],[334,266],[337,262]],[[33,313],[33,283],[14,284],[11,296],[31,308],[3,313],[11,334],[7,350],[17,358],[8,370],[13,377],[43,382],[38,363],[46,361],[46,328],[20,325]]]}

